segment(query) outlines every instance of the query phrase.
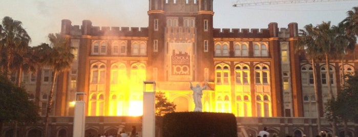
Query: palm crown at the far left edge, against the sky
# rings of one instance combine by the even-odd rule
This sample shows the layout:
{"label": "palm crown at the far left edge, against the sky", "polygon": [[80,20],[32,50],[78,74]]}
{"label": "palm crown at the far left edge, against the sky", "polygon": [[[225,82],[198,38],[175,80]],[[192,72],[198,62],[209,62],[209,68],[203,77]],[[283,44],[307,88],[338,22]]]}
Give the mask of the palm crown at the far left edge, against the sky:
{"label": "palm crown at the far left edge, against the sky", "polygon": [[30,36],[22,27],[22,22],[13,20],[11,17],[4,17],[0,27],[0,65],[5,75],[9,74],[14,54],[24,53],[31,41]]}

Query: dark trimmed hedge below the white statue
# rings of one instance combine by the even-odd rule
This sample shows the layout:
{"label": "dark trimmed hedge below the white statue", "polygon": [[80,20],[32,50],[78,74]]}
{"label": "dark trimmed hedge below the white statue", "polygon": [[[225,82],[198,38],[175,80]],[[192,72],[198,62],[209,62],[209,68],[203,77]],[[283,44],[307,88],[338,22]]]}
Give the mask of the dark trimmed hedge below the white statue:
{"label": "dark trimmed hedge below the white statue", "polygon": [[237,137],[236,117],[232,113],[174,112],[163,117],[165,137]]}

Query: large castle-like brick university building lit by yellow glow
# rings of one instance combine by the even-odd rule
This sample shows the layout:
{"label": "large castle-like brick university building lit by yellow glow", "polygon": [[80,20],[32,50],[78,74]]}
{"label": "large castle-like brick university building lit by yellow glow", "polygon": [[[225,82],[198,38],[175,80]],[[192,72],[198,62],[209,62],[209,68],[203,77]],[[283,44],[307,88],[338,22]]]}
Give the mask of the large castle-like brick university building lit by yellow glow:
{"label": "large castle-like brick university building lit by yellow glow", "polygon": [[[327,83],[331,82],[336,94],[341,88],[341,70],[353,73],[358,67],[353,56],[357,50],[347,55],[343,65],[340,60],[331,60],[330,68],[319,63],[321,98],[315,101],[312,65],[294,52],[297,23],[287,28],[278,28],[276,22],[265,29],[213,28],[213,0],[150,0],[148,16],[147,28],[96,27],[90,20],[72,25],[71,20],[62,20],[61,34],[71,38],[75,60],[71,71],[56,81],[53,116],[73,115],[71,102],[76,92],[87,94],[86,114],[93,119],[140,116],[144,80],[155,81],[156,91],[173,101],[177,111],[193,111],[189,82],[207,82],[203,111],[234,113],[238,120],[273,117],[281,123],[275,131],[314,135],[317,125],[311,118],[317,111],[323,113],[329,97]],[[326,71],[331,74],[329,80]],[[51,70],[46,68],[37,76],[24,76],[40,106],[46,105],[50,77]],[[319,110],[315,103],[320,104]],[[294,127],[295,121],[301,125],[285,128],[288,123]],[[104,132],[106,122],[101,123]],[[98,125],[87,129],[99,132]],[[65,131],[71,130],[67,127]],[[350,131],[356,134],[353,131],[357,130],[351,127]]]}

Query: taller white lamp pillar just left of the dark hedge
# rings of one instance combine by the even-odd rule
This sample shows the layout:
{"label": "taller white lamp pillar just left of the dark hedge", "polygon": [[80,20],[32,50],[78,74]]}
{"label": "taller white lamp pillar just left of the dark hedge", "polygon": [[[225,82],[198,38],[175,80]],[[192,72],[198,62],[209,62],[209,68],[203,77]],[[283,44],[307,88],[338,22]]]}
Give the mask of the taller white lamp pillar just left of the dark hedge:
{"label": "taller white lamp pillar just left of the dark hedge", "polygon": [[[146,85],[153,86],[153,90],[147,90]],[[143,81],[142,135],[155,136],[155,81]]]}

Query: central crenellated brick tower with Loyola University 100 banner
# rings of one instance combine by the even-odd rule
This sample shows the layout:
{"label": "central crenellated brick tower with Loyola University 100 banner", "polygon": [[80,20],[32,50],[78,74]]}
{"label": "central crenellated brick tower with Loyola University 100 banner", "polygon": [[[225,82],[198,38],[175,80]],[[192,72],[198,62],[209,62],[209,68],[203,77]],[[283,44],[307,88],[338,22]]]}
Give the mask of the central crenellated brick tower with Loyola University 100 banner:
{"label": "central crenellated brick tower with Loyola University 100 banner", "polygon": [[205,61],[213,59],[213,1],[150,0],[149,5],[148,63],[153,73],[148,77],[213,81],[213,65]]}

